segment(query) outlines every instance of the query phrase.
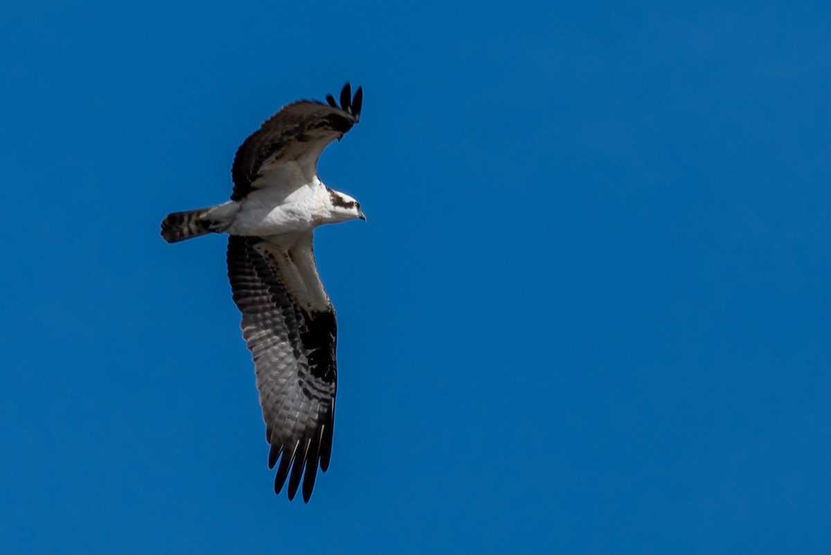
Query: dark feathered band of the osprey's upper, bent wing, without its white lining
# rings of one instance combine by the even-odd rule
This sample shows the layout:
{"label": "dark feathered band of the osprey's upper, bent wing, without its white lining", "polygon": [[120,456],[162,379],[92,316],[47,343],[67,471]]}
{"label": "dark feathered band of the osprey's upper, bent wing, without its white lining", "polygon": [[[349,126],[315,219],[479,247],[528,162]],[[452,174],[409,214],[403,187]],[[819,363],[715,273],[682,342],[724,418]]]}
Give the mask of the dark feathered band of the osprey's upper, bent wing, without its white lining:
{"label": "dark feathered band of the osprey's upper, bent wing, without its white lining", "polygon": [[[352,129],[361,117],[363,90],[358,87],[354,99],[352,87],[347,83],[341,91],[341,106],[332,95],[327,95],[328,104],[320,101],[297,101],[278,111],[263,122],[237,150],[231,178],[234,191],[231,200],[244,199],[253,189],[252,184],[260,177],[260,167],[273,155],[288,153],[293,156],[313,150],[320,143],[322,150],[332,140],[343,136]],[[293,148],[293,145],[300,148]]]}

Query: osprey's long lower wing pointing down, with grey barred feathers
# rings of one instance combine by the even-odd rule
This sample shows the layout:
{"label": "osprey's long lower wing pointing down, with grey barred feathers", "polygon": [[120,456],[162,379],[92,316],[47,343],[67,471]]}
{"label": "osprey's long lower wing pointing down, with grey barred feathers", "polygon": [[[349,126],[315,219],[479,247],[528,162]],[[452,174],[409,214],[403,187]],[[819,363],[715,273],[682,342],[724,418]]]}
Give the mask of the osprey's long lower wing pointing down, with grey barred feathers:
{"label": "osprey's long lower wing pointing down, with grey barred feathers", "polygon": [[[302,249],[311,257],[311,234],[307,241]],[[228,242],[228,275],[234,302],[243,313],[243,337],[257,372],[271,445],[268,468],[280,460],[274,490],[279,494],[288,478],[288,499],[294,499],[302,478],[303,500],[308,502],[318,464],[325,472],[332,455],[337,322],[327,297],[325,310],[301,307],[320,303],[298,300],[296,276],[283,278],[288,273],[284,264],[293,256],[300,255],[281,253],[263,238],[232,235]],[[314,278],[319,284],[317,272]]]}

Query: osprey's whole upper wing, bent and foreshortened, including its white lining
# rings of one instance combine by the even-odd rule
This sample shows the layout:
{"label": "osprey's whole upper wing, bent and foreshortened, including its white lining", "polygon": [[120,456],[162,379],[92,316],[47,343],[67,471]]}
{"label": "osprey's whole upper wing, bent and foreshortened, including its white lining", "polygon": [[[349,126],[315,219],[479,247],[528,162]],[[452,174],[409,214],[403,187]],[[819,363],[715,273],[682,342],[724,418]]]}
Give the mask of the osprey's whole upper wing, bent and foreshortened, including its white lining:
{"label": "osprey's whole upper wing, bent and foreshortened, including its white lining", "polygon": [[[352,129],[361,117],[363,90],[352,96],[347,83],[341,91],[341,104],[327,95],[320,101],[297,101],[283,106],[249,136],[237,150],[231,177],[231,200],[241,200],[253,189],[299,187],[317,174],[317,159],[323,149]],[[289,168],[287,162],[296,162]],[[300,174],[296,174],[299,169]]]}

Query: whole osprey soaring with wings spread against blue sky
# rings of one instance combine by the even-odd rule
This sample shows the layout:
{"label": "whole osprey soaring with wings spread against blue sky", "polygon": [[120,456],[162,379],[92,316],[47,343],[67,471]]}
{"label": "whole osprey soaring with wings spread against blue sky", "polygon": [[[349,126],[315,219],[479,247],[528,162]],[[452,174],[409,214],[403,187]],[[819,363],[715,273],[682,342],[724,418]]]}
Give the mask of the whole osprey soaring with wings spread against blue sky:
{"label": "whole osprey soaring with wings spread against blue sky", "polygon": [[329,466],[337,391],[335,309],[317,274],[312,234],[324,223],[366,221],[361,204],[317,177],[322,151],[358,122],[363,91],[352,96],[347,83],[340,106],[332,95],[326,100],[283,106],[243,142],[229,202],[161,223],[168,243],[229,234],[228,277],[257,374],[268,468],[280,461],[274,491],[288,478],[294,499],[302,479],[306,502],[317,466]]}

